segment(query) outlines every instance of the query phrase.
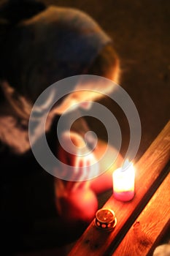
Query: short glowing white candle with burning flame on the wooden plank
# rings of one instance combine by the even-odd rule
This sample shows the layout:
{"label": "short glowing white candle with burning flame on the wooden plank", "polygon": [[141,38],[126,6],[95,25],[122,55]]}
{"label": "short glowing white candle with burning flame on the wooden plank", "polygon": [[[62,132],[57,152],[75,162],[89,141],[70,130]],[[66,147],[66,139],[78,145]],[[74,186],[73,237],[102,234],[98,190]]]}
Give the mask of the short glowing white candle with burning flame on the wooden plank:
{"label": "short glowing white candle with burning flame on the wooden plank", "polygon": [[129,201],[134,197],[134,165],[125,160],[123,167],[112,173],[113,196],[117,200]]}

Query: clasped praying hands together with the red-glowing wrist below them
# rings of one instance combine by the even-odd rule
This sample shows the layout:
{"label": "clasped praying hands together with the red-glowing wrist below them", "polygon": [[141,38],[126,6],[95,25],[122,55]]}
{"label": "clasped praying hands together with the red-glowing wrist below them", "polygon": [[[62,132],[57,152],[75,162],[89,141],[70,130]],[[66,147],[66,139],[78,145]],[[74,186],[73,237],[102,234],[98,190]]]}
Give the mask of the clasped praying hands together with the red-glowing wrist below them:
{"label": "clasped praying hands together with the red-glowing wrist below them", "polygon": [[[77,148],[71,148],[70,140]],[[55,179],[55,203],[58,213],[66,222],[82,220],[89,223],[98,208],[98,200],[90,189],[88,181],[89,178],[98,174],[98,165],[92,165],[96,159],[92,153],[85,157],[79,155],[80,149],[85,149],[86,146],[82,137],[75,132],[64,132],[62,143],[67,151],[60,147],[58,158],[64,164],[74,168],[71,169],[72,173],[69,173],[70,168],[63,166],[61,171],[66,180]]]}

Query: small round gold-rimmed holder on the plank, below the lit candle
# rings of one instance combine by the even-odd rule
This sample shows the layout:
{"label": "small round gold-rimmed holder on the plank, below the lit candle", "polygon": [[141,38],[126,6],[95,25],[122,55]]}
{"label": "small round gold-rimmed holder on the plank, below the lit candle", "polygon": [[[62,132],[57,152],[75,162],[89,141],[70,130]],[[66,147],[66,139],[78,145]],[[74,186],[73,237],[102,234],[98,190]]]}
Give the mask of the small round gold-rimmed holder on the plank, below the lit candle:
{"label": "small round gold-rimmed holder on the plank, below the lit candle", "polygon": [[109,208],[101,208],[96,212],[96,217],[94,219],[94,224],[99,230],[105,232],[111,232],[114,230],[117,219],[115,217],[115,212]]}

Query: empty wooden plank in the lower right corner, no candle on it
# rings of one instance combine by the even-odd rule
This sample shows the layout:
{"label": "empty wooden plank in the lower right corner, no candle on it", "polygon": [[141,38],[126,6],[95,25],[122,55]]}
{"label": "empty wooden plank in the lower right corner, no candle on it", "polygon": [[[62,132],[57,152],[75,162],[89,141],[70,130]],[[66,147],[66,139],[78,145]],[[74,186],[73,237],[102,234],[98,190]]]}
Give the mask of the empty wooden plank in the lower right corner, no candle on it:
{"label": "empty wooden plank in the lower right corner, no candle on it", "polygon": [[152,255],[164,230],[170,225],[170,173],[150,199],[142,214],[128,230],[128,233],[117,247],[114,256]]}

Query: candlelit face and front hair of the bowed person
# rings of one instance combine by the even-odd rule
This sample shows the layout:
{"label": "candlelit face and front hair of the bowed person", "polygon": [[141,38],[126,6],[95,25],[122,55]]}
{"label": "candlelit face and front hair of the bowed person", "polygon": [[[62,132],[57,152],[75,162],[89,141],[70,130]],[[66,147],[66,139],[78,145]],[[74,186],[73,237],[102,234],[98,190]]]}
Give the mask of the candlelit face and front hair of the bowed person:
{"label": "candlelit face and front hair of the bowed person", "polygon": [[[58,106],[58,113],[63,113],[63,111],[71,105],[72,108],[74,108],[74,105],[80,102],[80,108],[89,109],[91,105],[90,101],[93,102],[101,99],[104,97],[104,94],[109,94],[113,91],[114,83],[106,80],[104,84],[103,79],[101,79],[100,83],[100,78],[96,78],[96,76],[104,77],[115,83],[119,81],[120,61],[112,45],[106,45],[82,75],[95,75],[95,77],[92,76],[92,78],[89,77],[89,79],[85,78],[84,82],[81,80],[80,83],[77,83],[74,92],[69,94],[69,96],[61,102],[61,105]],[[83,89],[86,91],[82,91]],[[96,90],[101,91],[101,94],[96,93]]]}

